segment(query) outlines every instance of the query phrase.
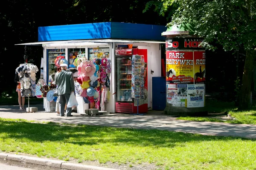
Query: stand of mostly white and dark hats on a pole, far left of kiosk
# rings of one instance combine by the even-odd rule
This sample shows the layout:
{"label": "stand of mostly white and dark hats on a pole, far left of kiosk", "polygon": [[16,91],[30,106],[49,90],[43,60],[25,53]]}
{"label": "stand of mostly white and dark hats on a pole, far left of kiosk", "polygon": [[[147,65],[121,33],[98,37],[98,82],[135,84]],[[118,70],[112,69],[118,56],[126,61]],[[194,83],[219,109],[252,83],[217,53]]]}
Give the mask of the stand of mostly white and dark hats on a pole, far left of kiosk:
{"label": "stand of mostly white and dark hats on a pole, far left of kiosk", "polygon": [[26,113],[37,112],[37,107],[29,107],[29,97],[35,96],[35,74],[38,72],[36,65],[32,63],[20,64],[16,68],[16,72],[20,74],[20,84],[21,84],[21,96],[28,98],[28,107],[26,108]]}

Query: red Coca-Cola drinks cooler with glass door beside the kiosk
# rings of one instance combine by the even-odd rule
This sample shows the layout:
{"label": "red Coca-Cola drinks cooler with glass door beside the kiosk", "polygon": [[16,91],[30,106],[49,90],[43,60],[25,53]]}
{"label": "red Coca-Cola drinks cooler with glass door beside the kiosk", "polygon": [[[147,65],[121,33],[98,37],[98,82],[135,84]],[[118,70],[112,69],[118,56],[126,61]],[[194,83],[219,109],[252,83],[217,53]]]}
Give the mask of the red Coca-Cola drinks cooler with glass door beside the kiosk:
{"label": "red Coca-Cola drinks cooler with glass door beside the kiosk", "polygon": [[[117,49],[116,56],[116,112],[137,113],[137,99],[131,98],[132,55],[140,49]],[[144,50],[147,51],[147,50]],[[145,55],[147,55],[145,53]],[[134,106],[136,102],[136,106]],[[139,105],[139,113],[146,113],[148,104]]]}

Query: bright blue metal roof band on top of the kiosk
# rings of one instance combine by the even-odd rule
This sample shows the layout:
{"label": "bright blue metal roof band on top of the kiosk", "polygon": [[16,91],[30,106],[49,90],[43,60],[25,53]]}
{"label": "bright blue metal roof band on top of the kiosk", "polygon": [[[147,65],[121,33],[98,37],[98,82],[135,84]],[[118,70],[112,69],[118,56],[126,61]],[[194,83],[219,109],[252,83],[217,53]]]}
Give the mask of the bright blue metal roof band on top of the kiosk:
{"label": "bright blue metal roof band on top of the kiosk", "polygon": [[38,41],[131,39],[161,40],[166,26],[134,23],[87,23],[38,27]]}

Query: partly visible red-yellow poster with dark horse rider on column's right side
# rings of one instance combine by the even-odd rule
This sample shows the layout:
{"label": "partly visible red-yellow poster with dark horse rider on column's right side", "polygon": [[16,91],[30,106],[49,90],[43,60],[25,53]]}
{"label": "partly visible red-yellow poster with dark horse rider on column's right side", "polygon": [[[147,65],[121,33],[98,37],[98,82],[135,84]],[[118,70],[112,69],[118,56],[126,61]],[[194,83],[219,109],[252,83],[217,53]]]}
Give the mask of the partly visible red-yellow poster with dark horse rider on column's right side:
{"label": "partly visible red-yellow poster with dark horse rider on column's right side", "polygon": [[195,84],[205,83],[205,51],[194,51]]}

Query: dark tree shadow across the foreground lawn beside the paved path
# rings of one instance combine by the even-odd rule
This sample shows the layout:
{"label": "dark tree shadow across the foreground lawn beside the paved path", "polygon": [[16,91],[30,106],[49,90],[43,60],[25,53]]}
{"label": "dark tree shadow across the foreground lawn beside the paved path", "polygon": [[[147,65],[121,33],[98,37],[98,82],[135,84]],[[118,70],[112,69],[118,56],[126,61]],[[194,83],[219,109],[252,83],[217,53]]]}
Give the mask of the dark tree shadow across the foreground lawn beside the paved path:
{"label": "dark tree shadow across the foreground lawn beside the paved path", "polygon": [[[76,145],[111,143],[133,144],[142,147],[175,147],[189,141],[243,139],[240,137],[203,136],[167,130],[140,130],[91,125],[59,125],[56,123],[31,123],[0,119],[0,132],[8,139],[27,139],[32,142],[58,141]],[[2,137],[5,140],[5,137]],[[243,139],[251,140],[251,139]]]}

